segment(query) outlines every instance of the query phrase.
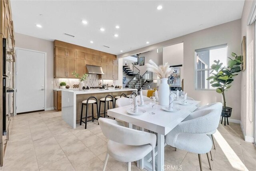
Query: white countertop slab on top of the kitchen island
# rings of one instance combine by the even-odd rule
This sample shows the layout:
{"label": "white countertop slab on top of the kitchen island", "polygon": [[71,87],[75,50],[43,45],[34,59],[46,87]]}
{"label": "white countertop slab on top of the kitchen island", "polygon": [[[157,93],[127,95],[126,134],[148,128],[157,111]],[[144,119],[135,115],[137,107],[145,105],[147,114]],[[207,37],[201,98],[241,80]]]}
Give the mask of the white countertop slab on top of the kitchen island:
{"label": "white countertop slab on top of the kitchen island", "polygon": [[61,91],[68,91],[72,92],[74,94],[90,94],[90,93],[110,93],[110,92],[120,92],[120,91],[137,91],[136,88],[129,88],[129,89],[105,89],[105,90],[100,90],[100,89],[89,89],[86,91],[80,91],[78,89],[60,89]]}

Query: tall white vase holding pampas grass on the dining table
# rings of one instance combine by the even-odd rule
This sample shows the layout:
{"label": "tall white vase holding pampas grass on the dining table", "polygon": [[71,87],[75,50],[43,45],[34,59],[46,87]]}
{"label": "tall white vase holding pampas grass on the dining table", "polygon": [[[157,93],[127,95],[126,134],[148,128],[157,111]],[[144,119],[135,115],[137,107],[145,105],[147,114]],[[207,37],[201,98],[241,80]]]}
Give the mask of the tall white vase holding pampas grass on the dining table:
{"label": "tall white vase holding pampas grass on the dining table", "polygon": [[161,78],[160,85],[158,87],[158,104],[159,105],[169,105],[169,95],[170,95],[170,87],[167,84],[168,78]]}

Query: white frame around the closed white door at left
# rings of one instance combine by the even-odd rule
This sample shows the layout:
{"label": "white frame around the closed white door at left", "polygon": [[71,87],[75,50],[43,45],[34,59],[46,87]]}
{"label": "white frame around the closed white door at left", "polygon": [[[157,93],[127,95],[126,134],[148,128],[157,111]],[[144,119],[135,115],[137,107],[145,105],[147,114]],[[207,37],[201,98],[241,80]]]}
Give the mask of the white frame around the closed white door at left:
{"label": "white frame around the closed white door at left", "polygon": [[44,110],[46,110],[46,88],[47,88],[47,84],[46,84],[46,52],[42,52],[42,51],[38,51],[38,50],[31,50],[31,49],[26,49],[26,48],[19,48],[19,47],[15,47],[15,87],[16,87],[16,96],[15,96],[15,113],[14,115],[17,115],[17,51],[18,50],[26,50],[26,51],[30,51],[30,52],[37,52],[37,53],[41,53],[44,54]]}

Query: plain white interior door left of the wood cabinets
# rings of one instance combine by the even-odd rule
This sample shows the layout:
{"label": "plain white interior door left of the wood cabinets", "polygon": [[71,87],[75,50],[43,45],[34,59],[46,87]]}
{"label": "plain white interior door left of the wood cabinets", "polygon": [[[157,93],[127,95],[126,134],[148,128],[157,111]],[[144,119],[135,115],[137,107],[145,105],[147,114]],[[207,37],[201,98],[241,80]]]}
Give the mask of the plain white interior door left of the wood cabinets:
{"label": "plain white interior door left of the wood cabinets", "polygon": [[45,53],[17,49],[17,113],[44,110]]}

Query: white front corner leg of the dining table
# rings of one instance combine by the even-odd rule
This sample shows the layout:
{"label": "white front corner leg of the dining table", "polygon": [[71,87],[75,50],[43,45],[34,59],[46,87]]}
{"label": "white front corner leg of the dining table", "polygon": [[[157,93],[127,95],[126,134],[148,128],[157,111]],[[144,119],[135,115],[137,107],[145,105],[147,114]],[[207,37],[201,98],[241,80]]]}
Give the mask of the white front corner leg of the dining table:
{"label": "white front corner leg of the dining table", "polygon": [[157,170],[164,170],[164,135],[157,134]]}

